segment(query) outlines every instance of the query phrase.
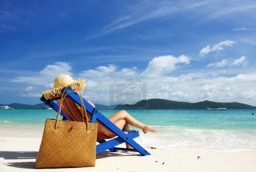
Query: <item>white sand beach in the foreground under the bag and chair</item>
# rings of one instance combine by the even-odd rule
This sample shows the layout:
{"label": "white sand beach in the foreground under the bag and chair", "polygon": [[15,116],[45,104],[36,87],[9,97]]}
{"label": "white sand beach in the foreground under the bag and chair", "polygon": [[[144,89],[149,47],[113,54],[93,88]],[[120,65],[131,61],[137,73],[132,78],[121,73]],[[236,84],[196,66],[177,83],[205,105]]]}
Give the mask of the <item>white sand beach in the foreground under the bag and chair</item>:
{"label": "white sand beach in the foreground under the bag and chair", "polygon": [[[207,152],[146,148],[138,153],[104,152],[96,167],[35,169],[41,139],[0,137],[0,172],[11,171],[255,171],[256,152]],[[200,157],[200,158],[199,158]]]}

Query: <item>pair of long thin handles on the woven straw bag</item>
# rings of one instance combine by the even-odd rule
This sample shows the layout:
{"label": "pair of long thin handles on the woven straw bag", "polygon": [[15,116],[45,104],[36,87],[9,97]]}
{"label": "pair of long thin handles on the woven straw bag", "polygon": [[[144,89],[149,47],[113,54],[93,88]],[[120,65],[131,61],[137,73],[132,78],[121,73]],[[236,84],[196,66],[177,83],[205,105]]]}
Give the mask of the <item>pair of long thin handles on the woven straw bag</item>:
{"label": "pair of long thin handles on the woven straw bag", "polygon": [[[86,112],[86,108],[85,108],[85,105],[84,105],[84,100],[82,100],[82,95],[81,95],[81,91],[79,89],[78,86],[76,86],[77,89],[79,90],[79,98],[80,98],[80,101],[81,101],[81,105],[82,105],[82,122],[84,122],[84,110],[85,110],[85,116],[86,116],[86,131],[88,131],[88,116],[87,116],[87,112]],[[56,123],[55,123],[55,129],[57,128],[57,123],[59,121],[59,118],[60,118],[60,111],[61,111],[61,107],[62,107],[62,104],[63,104],[63,101],[64,99],[67,97],[67,95],[69,93],[77,93],[76,91],[69,91],[67,94],[65,94],[65,91],[68,89],[68,87],[65,88],[65,90],[63,91],[63,94],[61,96],[61,99],[60,99],[60,107],[59,107],[59,111],[57,113],[57,116],[56,116]],[[65,94],[65,95],[64,95]]]}

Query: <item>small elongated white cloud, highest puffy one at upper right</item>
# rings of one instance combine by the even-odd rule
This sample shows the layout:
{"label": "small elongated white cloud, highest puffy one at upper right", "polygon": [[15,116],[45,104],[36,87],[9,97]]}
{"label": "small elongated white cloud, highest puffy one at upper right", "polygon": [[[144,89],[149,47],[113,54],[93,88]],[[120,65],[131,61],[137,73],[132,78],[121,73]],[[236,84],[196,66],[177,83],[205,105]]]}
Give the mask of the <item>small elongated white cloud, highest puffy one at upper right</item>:
{"label": "small elongated white cloud, highest puffy one at upper right", "polygon": [[234,43],[237,43],[237,41],[225,40],[225,41],[222,41],[221,43],[213,45],[212,47],[210,47],[210,45],[207,45],[207,47],[204,47],[203,49],[200,50],[199,54],[201,57],[204,57],[210,52],[214,52],[214,51],[220,52],[220,51],[223,51],[224,46],[232,47]]}

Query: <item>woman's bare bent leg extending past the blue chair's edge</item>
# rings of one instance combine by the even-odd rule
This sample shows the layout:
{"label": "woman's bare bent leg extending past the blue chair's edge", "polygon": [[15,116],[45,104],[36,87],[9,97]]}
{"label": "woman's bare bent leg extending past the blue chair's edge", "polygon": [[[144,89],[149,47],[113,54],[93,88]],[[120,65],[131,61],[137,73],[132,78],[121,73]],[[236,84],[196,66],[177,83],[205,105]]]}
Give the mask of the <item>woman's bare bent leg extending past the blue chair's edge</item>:
{"label": "woman's bare bent leg extending past the blue chair's edge", "polygon": [[[158,132],[157,129],[148,127],[147,125],[141,123],[137,119],[133,118],[128,112],[125,110],[121,110],[113,114],[112,116],[109,117],[109,120],[112,121],[112,123],[116,123],[119,120],[124,119],[127,124],[133,125],[134,127],[140,128],[143,130],[144,133],[147,133],[148,131],[151,132]],[[116,124],[117,125],[117,124]],[[123,124],[125,126],[125,124]]]}

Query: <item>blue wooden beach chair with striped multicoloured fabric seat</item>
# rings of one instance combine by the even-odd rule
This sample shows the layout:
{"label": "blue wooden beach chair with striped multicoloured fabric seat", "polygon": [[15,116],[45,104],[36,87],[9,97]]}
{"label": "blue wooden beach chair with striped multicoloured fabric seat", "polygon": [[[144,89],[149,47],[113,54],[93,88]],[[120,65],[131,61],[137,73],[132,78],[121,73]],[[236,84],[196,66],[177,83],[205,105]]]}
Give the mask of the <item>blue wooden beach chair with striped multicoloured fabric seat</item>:
{"label": "blue wooden beach chair with striped multicoloured fabric seat", "polygon": [[[65,89],[61,91],[63,93]],[[64,94],[67,94],[69,91],[73,91],[71,87],[68,87],[65,90]],[[56,112],[59,110],[60,107],[60,99],[61,94],[57,95],[56,97],[51,97],[50,99],[44,98],[42,96],[40,100],[47,104],[49,107],[53,108]],[[84,105],[86,107],[86,114],[88,115],[88,120],[90,123],[98,122],[98,125],[105,125],[110,131],[112,131],[117,137],[106,135],[101,131],[97,133],[97,142],[100,144],[96,145],[96,154],[104,152],[105,150],[110,150],[111,152],[117,152],[118,150],[129,150],[134,152],[139,152],[142,156],[150,155],[141,145],[135,142],[133,139],[139,137],[139,131],[137,130],[129,130],[129,131],[122,131],[119,129],[112,121],[106,118],[101,112],[94,108],[90,103],[84,100]],[[69,93],[67,97],[64,99],[63,107],[61,107],[60,115],[63,116],[63,119],[72,120],[72,121],[82,121],[82,105],[79,95],[75,92]],[[84,113],[85,114],[85,113]],[[127,133],[125,133],[127,132]],[[110,140],[105,140],[110,139]],[[133,149],[126,149],[126,148],[117,148],[115,146],[126,142],[129,144]]]}

